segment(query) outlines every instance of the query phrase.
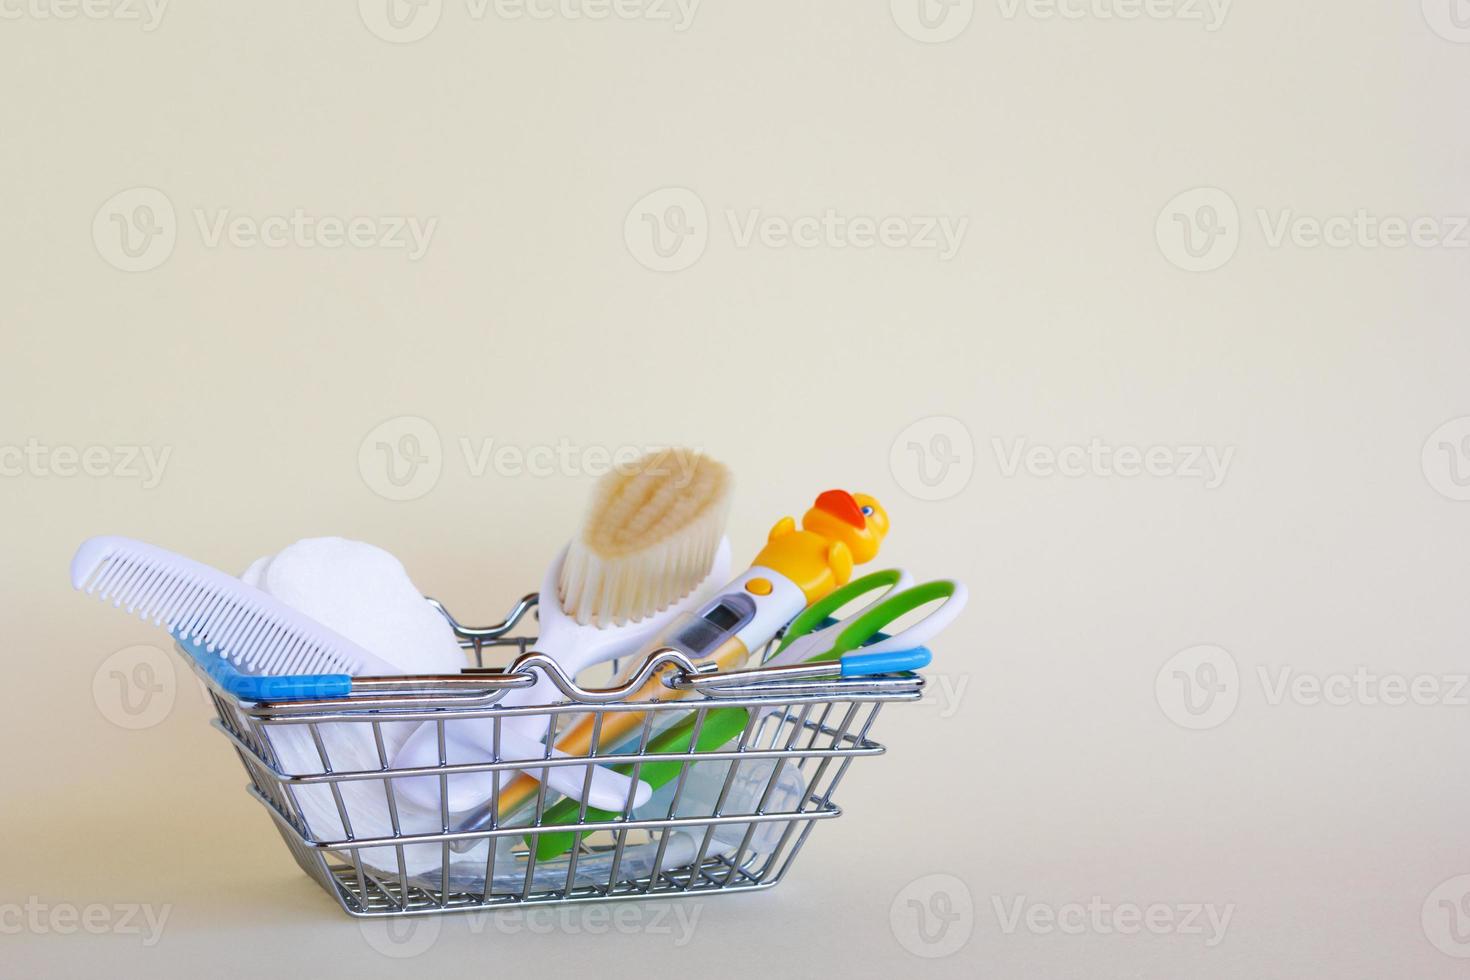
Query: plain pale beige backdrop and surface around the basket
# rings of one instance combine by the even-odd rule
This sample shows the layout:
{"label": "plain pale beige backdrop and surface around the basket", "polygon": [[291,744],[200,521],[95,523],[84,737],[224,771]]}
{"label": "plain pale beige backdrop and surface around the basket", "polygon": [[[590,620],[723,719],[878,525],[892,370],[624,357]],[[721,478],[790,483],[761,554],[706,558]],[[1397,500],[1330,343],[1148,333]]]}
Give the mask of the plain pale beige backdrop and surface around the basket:
{"label": "plain pale beige backdrop and surface around the basket", "polygon": [[[648,3],[444,0],[397,32],[368,0],[225,7],[169,4],[153,29],[141,6],[3,7],[7,974],[1460,976],[1470,423],[1432,438],[1470,416],[1451,0],[1217,24],[1186,0],[1136,19],[960,0],[932,28],[904,0],[710,0],[685,29]],[[1194,188],[1213,190],[1176,200]],[[670,204],[692,235],[660,260],[644,216],[667,245]],[[370,238],[435,225],[416,259],[209,234],[297,209]],[[772,244],[828,209],[898,219],[891,244]],[[1360,210],[1461,247],[1274,235]],[[753,213],[775,231],[745,239]],[[947,260],[894,244],[926,217],[967,222]],[[165,234],[129,259],[119,219]],[[403,417],[432,426],[440,475],[392,501],[373,445],[416,432]],[[1094,438],[1170,447],[1163,469],[1232,455],[1213,488],[1008,466],[1017,439]],[[110,660],[160,635],[68,588],[94,533],[232,570],[341,533],[498,619],[589,480],[476,473],[462,441],[487,439],[704,447],[738,472],[741,554],[817,489],[867,489],[892,563],[973,588],[936,695],[883,717],[891,752],[854,767],[847,815],[776,890],[698,905],[692,936],[645,909],[607,936],[448,918],[375,945],[244,796],[197,691],[147,649]],[[63,475],[90,447],[94,475]],[[128,447],[169,453],[156,485],[115,464]],[[1170,658],[1205,644],[1238,673],[1191,716],[1175,670],[1208,679],[1201,654]],[[137,663],[165,691],[129,730],[112,671]],[[1272,702],[1283,670],[1360,666],[1439,702]],[[1004,927],[1017,899],[1094,896],[1232,911],[1216,945]],[[935,942],[908,899],[948,911]],[[18,932],[26,904],[169,917],[148,946]]]}

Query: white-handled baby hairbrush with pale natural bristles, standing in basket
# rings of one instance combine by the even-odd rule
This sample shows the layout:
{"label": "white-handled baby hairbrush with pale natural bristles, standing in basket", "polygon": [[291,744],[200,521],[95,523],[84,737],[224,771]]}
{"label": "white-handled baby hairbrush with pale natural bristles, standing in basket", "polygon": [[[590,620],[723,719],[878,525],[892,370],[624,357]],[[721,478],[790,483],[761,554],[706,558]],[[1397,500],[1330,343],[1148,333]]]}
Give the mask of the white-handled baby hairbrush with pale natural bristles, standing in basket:
{"label": "white-handled baby hairbrush with pale natural bristles, standing in basket", "polygon": [[[532,649],[547,654],[575,677],[588,667],[637,652],[682,614],[697,608],[729,577],[725,539],[732,480],[729,470],[691,450],[654,453],[603,476],[592,491],[587,520],[551,563],[538,599],[539,636]],[[503,707],[554,704],[564,695],[547,676],[531,688],[510,691]],[[504,733],[542,741],[548,714],[501,718]],[[491,761],[494,721],[466,718],[423,724],[394,758],[395,767],[434,767]],[[581,767],[560,767],[576,773]],[[535,777],[557,771],[528,770]],[[514,776],[500,773],[501,783]],[[610,782],[610,780],[609,780]],[[440,777],[401,780],[403,795],[420,805],[440,805]],[[475,810],[494,789],[488,771],[448,777],[448,808]],[[594,793],[597,788],[594,788]],[[647,799],[647,785],[638,799]],[[576,792],[581,796],[581,790]],[[604,798],[606,799],[606,798]],[[626,795],[623,798],[626,799]],[[620,801],[619,801],[620,802]]]}

